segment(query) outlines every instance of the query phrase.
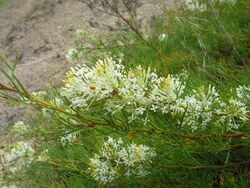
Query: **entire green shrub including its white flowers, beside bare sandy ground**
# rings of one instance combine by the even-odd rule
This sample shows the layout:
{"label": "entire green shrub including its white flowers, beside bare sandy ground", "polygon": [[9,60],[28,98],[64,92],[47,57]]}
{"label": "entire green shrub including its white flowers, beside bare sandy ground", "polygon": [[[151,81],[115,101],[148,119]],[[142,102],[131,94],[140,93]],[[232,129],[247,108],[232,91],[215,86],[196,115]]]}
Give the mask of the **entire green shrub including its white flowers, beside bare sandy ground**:
{"label": "entire green shrub including its white flowers, beside bare sandy ground", "polygon": [[2,184],[250,185],[250,3],[190,0],[166,15],[143,36],[78,29],[57,88],[28,92],[1,55],[0,96],[36,115],[11,128]]}

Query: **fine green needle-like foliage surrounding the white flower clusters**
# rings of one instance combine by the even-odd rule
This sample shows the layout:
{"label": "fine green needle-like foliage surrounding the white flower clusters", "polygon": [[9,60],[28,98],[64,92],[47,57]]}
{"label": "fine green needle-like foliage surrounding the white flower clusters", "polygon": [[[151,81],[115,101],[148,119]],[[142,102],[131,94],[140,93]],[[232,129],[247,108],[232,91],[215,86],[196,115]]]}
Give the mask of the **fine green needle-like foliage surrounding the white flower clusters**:
{"label": "fine green needle-like foliage surrounding the white flower clusters", "polygon": [[[140,75],[136,67],[141,65],[145,69],[156,69],[157,74],[165,78],[186,71],[188,78],[183,96],[193,95],[194,89],[202,93],[202,88],[208,90],[212,84],[222,100],[228,102],[228,99],[237,97],[233,91],[235,88],[249,85],[250,4],[247,0],[235,5],[209,2],[205,2],[206,11],[190,11],[185,7],[167,11],[167,23],[163,18],[156,20],[152,33],[144,40],[138,33],[121,32],[117,38],[104,41],[78,30],[80,37],[89,40],[74,47],[68,59],[84,59],[89,63],[106,56],[121,57],[128,74],[137,71]],[[0,71],[10,80],[11,86],[0,83],[0,89],[15,91],[20,98],[4,91],[0,96],[33,105],[36,109],[36,118],[28,122],[32,128],[25,134],[25,139],[34,142],[36,152],[31,163],[19,173],[7,173],[7,182],[14,182],[18,187],[77,188],[250,185],[249,92],[240,101],[246,104],[246,120],[241,122],[237,114],[232,115],[240,124],[238,129],[216,119],[224,111],[213,111],[213,121],[205,128],[192,129],[184,121],[189,113],[188,107],[182,115],[148,109],[146,118],[149,123],[145,123],[144,114],[129,121],[131,110],[124,107],[117,113],[109,113],[105,109],[105,98],[91,98],[87,107],[74,107],[69,97],[62,97],[61,88],[48,88],[45,94],[30,94],[14,76],[15,67],[4,56],[1,59],[11,73],[1,67]],[[135,71],[129,71],[132,69]],[[96,70],[99,70],[99,76],[103,76],[100,69]],[[71,73],[64,84],[71,83],[74,76]],[[161,86],[165,87],[164,82]],[[120,100],[116,92],[113,90],[111,101]],[[202,125],[202,118],[196,123]],[[67,136],[70,134],[69,141]],[[62,141],[65,136],[66,143]],[[117,178],[110,183],[95,181],[91,176],[93,167],[90,161],[95,155],[101,156],[103,143],[108,137],[122,138],[126,146],[135,143],[136,149],[144,145],[154,148],[157,155],[148,165],[150,173],[145,177],[126,177],[119,171],[121,174],[116,174]],[[109,148],[112,149],[112,144]],[[100,160],[107,158],[101,157]],[[115,161],[111,163],[115,164]],[[123,168],[125,171],[126,167]]]}

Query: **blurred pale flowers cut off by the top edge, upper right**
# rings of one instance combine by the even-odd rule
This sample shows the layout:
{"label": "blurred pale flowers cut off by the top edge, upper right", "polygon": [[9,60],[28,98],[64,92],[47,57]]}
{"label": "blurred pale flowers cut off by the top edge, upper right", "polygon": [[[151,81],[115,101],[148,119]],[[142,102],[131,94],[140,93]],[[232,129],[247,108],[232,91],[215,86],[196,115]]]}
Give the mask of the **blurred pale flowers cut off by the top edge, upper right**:
{"label": "blurred pale flowers cut off by the top edge, upper right", "polygon": [[[207,9],[205,1],[202,0],[185,0],[185,6],[188,10],[204,12]],[[237,0],[209,0],[210,3],[227,3],[230,5],[235,5]]]}

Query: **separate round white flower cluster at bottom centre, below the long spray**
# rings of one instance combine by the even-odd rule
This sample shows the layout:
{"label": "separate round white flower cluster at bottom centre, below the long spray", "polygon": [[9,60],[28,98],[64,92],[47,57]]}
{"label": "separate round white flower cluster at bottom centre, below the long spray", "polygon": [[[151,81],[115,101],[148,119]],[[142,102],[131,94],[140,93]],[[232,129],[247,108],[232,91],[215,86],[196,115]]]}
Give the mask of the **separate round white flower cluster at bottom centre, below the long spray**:
{"label": "separate round white flower cluster at bottom centre, below the long spray", "polygon": [[109,137],[100,150],[100,154],[90,159],[91,176],[102,184],[123,176],[146,176],[149,165],[156,157],[155,151],[145,145],[125,145],[121,138]]}

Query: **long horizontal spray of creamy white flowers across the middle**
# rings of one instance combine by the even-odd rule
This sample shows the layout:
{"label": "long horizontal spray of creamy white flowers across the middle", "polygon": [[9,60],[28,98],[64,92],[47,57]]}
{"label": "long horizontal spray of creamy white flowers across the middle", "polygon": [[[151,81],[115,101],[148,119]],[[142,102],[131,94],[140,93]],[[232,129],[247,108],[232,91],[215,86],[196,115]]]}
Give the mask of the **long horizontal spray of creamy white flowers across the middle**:
{"label": "long horizontal spray of creamy white flowers across the middle", "polygon": [[[242,100],[249,96],[247,86],[239,86],[236,98],[226,103],[213,86],[200,87],[184,95],[186,83],[182,80],[186,80],[186,73],[165,78],[141,66],[125,71],[121,62],[112,58],[99,60],[93,68],[85,65],[72,68],[67,77],[61,94],[71,101],[73,108],[87,110],[94,102],[104,101],[102,108],[112,114],[126,110],[130,121],[140,118],[146,124],[150,111],[161,112],[184,116],[179,123],[192,130],[205,128],[214,120],[227,120],[231,128],[238,127],[230,123],[233,119],[248,120],[249,111]],[[217,116],[219,118],[214,118]]]}

